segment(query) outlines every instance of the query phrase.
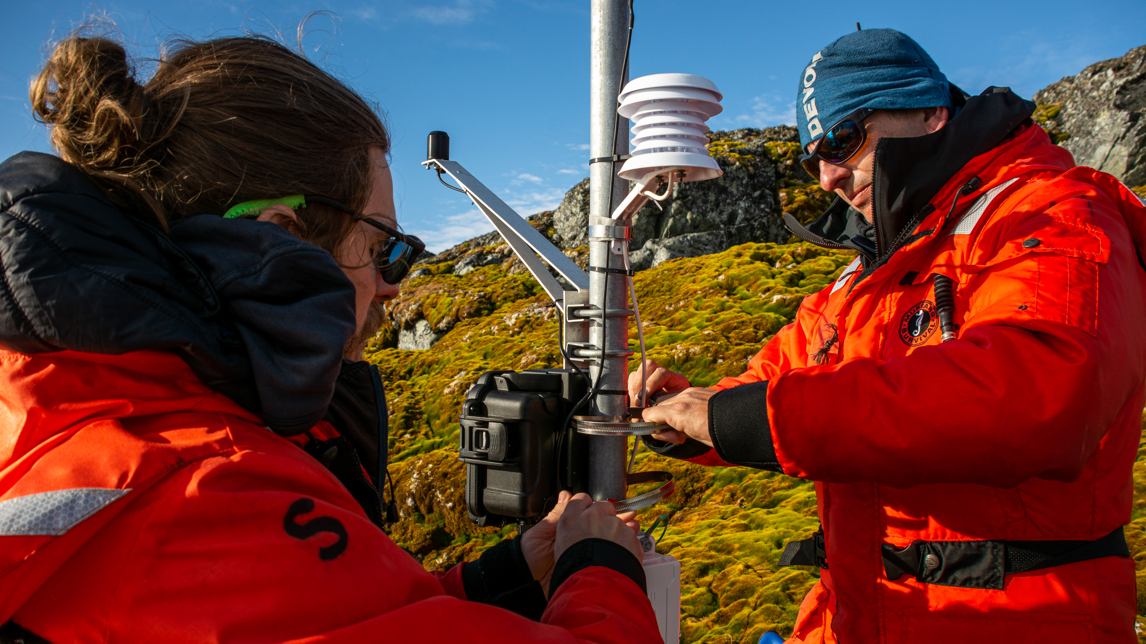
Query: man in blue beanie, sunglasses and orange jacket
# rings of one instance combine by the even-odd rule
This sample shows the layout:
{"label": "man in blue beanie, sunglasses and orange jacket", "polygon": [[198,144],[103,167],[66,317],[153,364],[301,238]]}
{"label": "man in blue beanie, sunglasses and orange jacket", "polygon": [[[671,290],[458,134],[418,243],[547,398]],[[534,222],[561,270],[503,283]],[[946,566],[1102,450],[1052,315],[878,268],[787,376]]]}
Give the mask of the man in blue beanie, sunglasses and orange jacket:
{"label": "man in blue beanie, sunglasses and orange jacket", "polygon": [[1143,203],[894,30],[817,52],[796,96],[838,198],[785,220],[857,257],[740,376],[649,361],[676,395],[646,445],[816,481],[822,527],[779,561],[821,568],[790,642],[1137,642]]}

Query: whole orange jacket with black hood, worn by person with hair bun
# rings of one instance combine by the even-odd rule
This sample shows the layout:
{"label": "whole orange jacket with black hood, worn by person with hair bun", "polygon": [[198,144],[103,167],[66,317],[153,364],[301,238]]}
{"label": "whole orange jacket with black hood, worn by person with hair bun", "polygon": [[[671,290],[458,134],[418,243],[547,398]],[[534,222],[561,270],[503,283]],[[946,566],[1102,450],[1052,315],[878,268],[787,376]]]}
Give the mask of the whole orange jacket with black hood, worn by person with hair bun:
{"label": "whole orange jacket with black hood, worn by person with hair bun", "polygon": [[516,542],[431,574],[379,529],[353,293],[273,223],[165,233],[57,157],[0,163],[0,641],[659,641],[612,542],[547,602]]}

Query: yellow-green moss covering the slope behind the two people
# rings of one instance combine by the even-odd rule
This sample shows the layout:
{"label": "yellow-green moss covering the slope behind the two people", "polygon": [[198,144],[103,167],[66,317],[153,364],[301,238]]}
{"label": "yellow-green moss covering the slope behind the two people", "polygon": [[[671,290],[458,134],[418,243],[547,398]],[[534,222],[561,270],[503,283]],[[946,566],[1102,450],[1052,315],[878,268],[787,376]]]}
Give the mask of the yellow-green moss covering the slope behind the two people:
{"label": "yellow-green moss covering the slope behind the two people", "polygon": [[[850,261],[848,252],[809,244],[744,244],[638,273],[649,354],[696,385],[739,374],[803,297]],[[440,570],[513,529],[478,528],[466,517],[455,447],[466,390],[484,371],[558,367],[560,356],[556,312],[527,274],[499,265],[465,275],[431,268],[403,285],[392,309],[421,308],[435,327],[448,320],[450,330],[429,351],[382,348],[390,343],[379,341],[367,359],[383,370],[392,414],[391,472],[402,519],[391,536],[426,568]],[[790,634],[817,571],[778,570],[776,561],[785,542],[816,528],[811,482],[700,468],[646,450],[636,470],[669,470],[677,479],[675,495],[639,519],[647,526],[669,516],[659,549],[682,563],[682,642],[754,644],[766,630]],[[1135,465],[1135,492],[1127,536],[1139,568],[1139,605],[1146,606],[1146,448]]]}

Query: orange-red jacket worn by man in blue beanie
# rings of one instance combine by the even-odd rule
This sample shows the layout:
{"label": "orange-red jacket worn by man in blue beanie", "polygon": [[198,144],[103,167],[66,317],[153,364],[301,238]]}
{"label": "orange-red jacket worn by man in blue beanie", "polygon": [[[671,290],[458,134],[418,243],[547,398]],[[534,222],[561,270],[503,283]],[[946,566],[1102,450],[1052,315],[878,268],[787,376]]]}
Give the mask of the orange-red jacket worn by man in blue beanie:
{"label": "orange-red jacket worn by man in blue beanie", "polygon": [[[1137,642],[1133,560],[1004,574],[1018,551],[1002,553],[1120,539],[1130,520],[1146,209],[1029,121],[929,204],[913,241],[872,269],[857,258],[713,387],[716,449],[690,460],[744,464],[752,440],[771,451],[754,466],[817,481],[826,567],[791,642]],[[955,283],[947,343],[935,275]],[[940,558],[887,564],[920,544]],[[928,576],[950,564],[958,578],[960,556],[982,564],[978,581]]]}

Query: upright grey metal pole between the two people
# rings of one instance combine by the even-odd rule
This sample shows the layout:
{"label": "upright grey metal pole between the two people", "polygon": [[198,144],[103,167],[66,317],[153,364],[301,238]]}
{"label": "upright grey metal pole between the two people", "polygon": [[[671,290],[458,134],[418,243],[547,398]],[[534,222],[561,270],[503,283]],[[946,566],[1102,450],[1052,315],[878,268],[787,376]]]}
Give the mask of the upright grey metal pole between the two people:
{"label": "upright grey metal pole between the two people", "polygon": [[[590,73],[589,73],[589,156],[591,158],[627,155],[629,151],[628,119],[617,113],[617,94],[628,81],[621,78],[625,64],[625,44],[628,37],[629,7],[626,0],[591,0],[590,9]],[[615,147],[613,146],[615,132]],[[590,225],[611,225],[609,215],[628,193],[628,182],[617,176],[620,166],[595,163],[589,166]],[[610,203],[610,183],[612,202]],[[611,252],[607,239],[589,241],[589,266],[623,268],[621,256]],[[606,285],[607,282],[607,285]],[[628,285],[617,273],[589,273],[589,304],[597,309],[628,308]],[[607,328],[603,328],[607,325]],[[604,333],[602,332],[604,330]],[[602,336],[604,335],[604,343]],[[604,355],[592,368],[597,388],[625,391],[628,359],[615,355],[628,351],[628,317],[595,317],[589,327],[589,341],[604,350]],[[605,345],[605,346],[603,346]],[[610,356],[609,354],[614,354]],[[623,395],[598,394],[594,398],[594,414],[623,416],[627,403]],[[589,495],[594,501],[625,498],[626,448],[625,437],[589,437]]]}

